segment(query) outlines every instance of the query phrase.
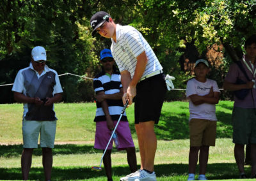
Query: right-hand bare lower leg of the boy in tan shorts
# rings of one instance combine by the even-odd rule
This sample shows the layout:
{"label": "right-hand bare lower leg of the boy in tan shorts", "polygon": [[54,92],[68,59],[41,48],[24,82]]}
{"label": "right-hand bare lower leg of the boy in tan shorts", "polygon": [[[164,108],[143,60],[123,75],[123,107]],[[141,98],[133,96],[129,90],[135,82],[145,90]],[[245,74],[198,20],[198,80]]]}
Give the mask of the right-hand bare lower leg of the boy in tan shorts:
{"label": "right-hand bare lower leg of the boy in tan shorts", "polygon": [[209,157],[209,146],[202,145],[199,153],[199,174],[205,175]]}

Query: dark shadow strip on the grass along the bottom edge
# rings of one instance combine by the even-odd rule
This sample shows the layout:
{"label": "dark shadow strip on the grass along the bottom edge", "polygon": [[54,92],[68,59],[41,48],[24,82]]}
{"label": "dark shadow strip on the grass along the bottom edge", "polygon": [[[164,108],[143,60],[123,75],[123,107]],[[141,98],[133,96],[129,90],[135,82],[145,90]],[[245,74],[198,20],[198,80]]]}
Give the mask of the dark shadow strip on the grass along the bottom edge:
{"label": "dark shadow strip on the grass along the bottom edge", "polygon": [[[179,177],[187,177],[188,164],[158,164],[155,166],[157,178],[168,178],[168,180],[177,180]],[[249,168],[246,168],[246,174],[249,175]],[[198,173],[198,170],[196,171]],[[124,177],[129,174],[127,166],[113,167],[115,177]],[[208,164],[207,177],[211,180],[237,178],[237,166],[235,163],[214,163]],[[77,180],[105,177],[105,171],[92,171],[88,167],[54,167],[52,168],[52,180]],[[20,168],[0,168],[0,179],[19,180],[21,179]],[[43,180],[43,168],[31,168],[29,173],[31,180]]]}

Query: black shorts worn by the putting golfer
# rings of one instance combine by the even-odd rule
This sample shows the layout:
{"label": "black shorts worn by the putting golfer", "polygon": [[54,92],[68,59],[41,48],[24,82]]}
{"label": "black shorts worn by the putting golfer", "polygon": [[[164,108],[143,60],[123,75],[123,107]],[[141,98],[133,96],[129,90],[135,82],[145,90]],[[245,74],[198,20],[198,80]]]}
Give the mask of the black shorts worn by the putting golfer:
{"label": "black shorts worn by the putting golfer", "polygon": [[135,124],[150,120],[158,124],[166,91],[163,73],[137,84],[134,104]]}

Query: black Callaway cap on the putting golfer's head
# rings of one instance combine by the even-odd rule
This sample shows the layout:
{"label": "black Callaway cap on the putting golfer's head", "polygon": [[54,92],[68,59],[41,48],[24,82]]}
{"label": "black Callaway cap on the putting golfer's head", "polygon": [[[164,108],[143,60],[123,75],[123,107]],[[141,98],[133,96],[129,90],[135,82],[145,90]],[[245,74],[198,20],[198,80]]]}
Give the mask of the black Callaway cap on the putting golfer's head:
{"label": "black Callaway cap on the putting golfer's head", "polygon": [[108,13],[106,13],[105,11],[99,11],[97,13],[95,13],[91,20],[90,20],[90,24],[92,26],[92,36],[94,36],[94,34],[96,33],[95,30],[100,27],[100,25],[104,24],[104,22],[106,22],[106,20],[108,20],[108,18],[110,17],[110,15]]}

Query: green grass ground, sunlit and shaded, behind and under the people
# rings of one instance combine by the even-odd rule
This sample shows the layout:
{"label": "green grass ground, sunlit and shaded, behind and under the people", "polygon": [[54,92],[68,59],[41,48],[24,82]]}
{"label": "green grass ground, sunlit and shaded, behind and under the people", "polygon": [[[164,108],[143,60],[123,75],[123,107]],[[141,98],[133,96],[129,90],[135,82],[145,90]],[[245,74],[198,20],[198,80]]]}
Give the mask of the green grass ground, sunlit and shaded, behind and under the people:
{"label": "green grass ground, sunlit and shaded, behind and under the people", "polygon": [[[207,177],[214,179],[237,178],[233,156],[231,113],[233,103],[220,101],[216,106],[218,129],[216,147],[210,148]],[[99,166],[102,152],[93,148],[95,134],[95,103],[56,104],[58,117],[56,147],[52,180],[106,180],[104,171],[91,171]],[[140,154],[134,130],[134,106],[127,108],[132,137],[136,145],[138,164]],[[0,179],[21,179],[22,105],[0,105]],[[164,103],[161,119],[156,126],[158,139],[155,159],[157,180],[186,180],[188,175],[189,129],[188,103]],[[4,145],[3,145],[4,143]],[[113,180],[129,173],[124,151],[112,154]],[[250,167],[246,167],[249,175]],[[198,173],[198,171],[197,171]],[[41,150],[35,149],[29,178],[44,180]]]}

